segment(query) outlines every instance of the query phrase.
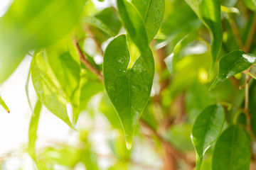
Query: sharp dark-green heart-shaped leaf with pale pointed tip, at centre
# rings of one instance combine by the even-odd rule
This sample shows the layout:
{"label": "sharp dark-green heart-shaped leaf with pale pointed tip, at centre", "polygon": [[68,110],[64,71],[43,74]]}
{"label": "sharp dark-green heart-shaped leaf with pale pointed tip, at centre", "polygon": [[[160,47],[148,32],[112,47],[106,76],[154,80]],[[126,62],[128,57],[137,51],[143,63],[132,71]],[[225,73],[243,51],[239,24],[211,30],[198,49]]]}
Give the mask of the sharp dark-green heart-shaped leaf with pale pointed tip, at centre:
{"label": "sharp dark-green heart-shaped leaf with pale pointed tip, at centre", "polygon": [[128,67],[130,57],[125,35],[112,40],[105,50],[104,84],[122,122],[127,149],[132,147],[134,129],[151,93],[154,59],[149,48],[146,57],[140,56],[132,68]]}

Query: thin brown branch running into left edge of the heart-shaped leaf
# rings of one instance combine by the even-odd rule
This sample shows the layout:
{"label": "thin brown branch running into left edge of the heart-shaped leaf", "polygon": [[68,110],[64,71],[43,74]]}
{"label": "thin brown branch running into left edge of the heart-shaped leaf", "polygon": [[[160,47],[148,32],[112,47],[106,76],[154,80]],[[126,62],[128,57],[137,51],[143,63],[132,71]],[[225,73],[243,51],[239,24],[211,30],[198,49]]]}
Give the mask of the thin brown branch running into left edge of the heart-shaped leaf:
{"label": "thin brown branch running into left edge of the heart-shaped leaf", "polygon": [[78,45],[78,41],[77,40],[73,40],[73,43],[75,45],[75,49],[78,52],[78,55],[79,55],[79,58],[80,58],[80,62],[82,62],[82,64],[84,64],[85,67],[87,67],[87,69],[89,69],[93,74],[95,74],[100,79],[100,81],[103,82],[102,72],[100,72],[98,69],[93,67],[93,65],[90,64],[90,62],[86,59],[85,55],[82,53],[82,50],[80,49],[80,47]]}

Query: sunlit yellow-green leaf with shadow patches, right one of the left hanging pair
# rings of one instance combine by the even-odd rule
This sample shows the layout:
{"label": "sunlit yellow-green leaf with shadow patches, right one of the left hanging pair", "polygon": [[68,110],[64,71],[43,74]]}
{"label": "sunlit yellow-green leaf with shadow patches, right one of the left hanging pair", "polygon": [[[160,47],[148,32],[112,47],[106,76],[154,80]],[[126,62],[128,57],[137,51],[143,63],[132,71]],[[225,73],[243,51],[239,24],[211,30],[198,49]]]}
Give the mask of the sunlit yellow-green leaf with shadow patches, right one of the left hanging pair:
{"label": "sunlit yellow-green leaf with shadow patches, right one of the left hanging pair", "polygon": [[70,38],[47,48],[47,58],[68,102],[73,107],[76,123],[80,106],[80,60]]}

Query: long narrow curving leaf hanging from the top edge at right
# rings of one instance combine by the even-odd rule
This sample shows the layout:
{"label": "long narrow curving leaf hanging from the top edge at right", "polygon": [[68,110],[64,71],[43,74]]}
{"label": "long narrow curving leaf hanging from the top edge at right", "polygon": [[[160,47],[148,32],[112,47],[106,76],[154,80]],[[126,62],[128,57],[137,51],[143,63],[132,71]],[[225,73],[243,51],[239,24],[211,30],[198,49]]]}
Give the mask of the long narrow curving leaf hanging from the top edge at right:
{"label": "long narrow curving leaf hanging from the top edge at right", "polygon": [[221,23],[220,0],[201,0],[199,3],[199,12],[203,22],[210,29],[212,36],[212,57],[213,66],[220,53],[220,47],[223,39],[223,29]]}

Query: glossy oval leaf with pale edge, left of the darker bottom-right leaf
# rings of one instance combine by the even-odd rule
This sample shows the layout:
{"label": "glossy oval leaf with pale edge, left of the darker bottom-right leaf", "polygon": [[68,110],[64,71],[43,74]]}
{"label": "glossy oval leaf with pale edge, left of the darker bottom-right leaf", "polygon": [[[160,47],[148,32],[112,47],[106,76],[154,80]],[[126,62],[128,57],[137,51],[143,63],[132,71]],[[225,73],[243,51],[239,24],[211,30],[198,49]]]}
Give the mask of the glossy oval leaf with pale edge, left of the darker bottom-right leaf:
{"label": "glossy oval leaf with pale edge, left of the darker bottom-right leaf", "polygon": [[213,145],[223,128],[225,111],[222,106],[208,106],[193,125],[191,140],[196,149],[196,169],[201,169],[203,155]]}

